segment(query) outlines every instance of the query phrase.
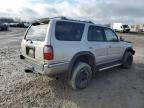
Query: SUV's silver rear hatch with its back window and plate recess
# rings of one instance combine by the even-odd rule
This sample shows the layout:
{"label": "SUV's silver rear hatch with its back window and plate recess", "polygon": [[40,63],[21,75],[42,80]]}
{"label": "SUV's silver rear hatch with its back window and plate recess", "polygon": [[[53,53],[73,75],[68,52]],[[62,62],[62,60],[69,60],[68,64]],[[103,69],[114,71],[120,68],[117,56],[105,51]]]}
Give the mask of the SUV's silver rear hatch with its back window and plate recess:
{"label": "SUV's silver rear hatch with its back window and plate recess", "polygon": [[43,68],[43,49],[49,21],[34,22],[22,41],[22,55],[33,67]]}

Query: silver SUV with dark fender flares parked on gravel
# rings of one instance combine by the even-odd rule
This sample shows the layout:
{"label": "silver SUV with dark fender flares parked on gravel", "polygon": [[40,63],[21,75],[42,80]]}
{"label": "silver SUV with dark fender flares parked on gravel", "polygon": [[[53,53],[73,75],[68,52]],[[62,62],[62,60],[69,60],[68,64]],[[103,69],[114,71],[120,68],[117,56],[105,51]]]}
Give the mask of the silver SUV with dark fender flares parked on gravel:
{"label": "silver SUV with dark fender flares parked on gravel", "polygon": [[26,72],[63,74],[73,89],[86,88],[97,71],[129,68],[135,53],[112,29],[65,17],[34,21],[21,49]]}

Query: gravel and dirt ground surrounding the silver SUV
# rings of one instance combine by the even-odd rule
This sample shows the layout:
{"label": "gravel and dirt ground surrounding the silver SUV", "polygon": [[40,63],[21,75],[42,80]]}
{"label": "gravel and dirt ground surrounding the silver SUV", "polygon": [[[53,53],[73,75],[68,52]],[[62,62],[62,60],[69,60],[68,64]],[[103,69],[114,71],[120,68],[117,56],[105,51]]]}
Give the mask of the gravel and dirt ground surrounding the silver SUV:
{"label": "gravel and dirt ground surrounding the silver SUV", "polygon": [[0,107],[144,108],[144,36],[118,34],[133,42],[133,66],[99,72],[88,88],[74,91],[65,81],[24,72],[19,59],[24,31],[0,32]]}

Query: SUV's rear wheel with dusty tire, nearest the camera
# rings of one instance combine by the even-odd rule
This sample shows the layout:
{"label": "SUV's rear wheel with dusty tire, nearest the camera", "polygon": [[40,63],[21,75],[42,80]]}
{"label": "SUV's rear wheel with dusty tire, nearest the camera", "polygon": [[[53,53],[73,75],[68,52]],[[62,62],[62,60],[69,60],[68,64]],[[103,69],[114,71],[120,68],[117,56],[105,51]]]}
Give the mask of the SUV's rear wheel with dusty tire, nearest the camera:
{"label": "SUV's rear wheel with dusty tire, nearest the camera", "polygon": [[73,69],[70,85],[74,90],[86,88],[92,79],[92,70],[89,64],[78,62]]}

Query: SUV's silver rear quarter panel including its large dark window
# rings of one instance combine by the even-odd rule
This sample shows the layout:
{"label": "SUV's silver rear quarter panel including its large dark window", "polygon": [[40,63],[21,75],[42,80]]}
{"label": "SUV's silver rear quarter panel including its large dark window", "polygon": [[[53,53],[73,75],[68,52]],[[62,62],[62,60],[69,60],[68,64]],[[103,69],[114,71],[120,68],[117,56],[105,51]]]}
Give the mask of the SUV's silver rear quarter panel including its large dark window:
{"label": "SUV's silver rear quarter panel including its large dark window", "polygon": [[53,24],[51,45],[54,49],[53,63],[69,62],[72,57],[83,51],[83,32],[85,24],[75,21],[57,20]]}

